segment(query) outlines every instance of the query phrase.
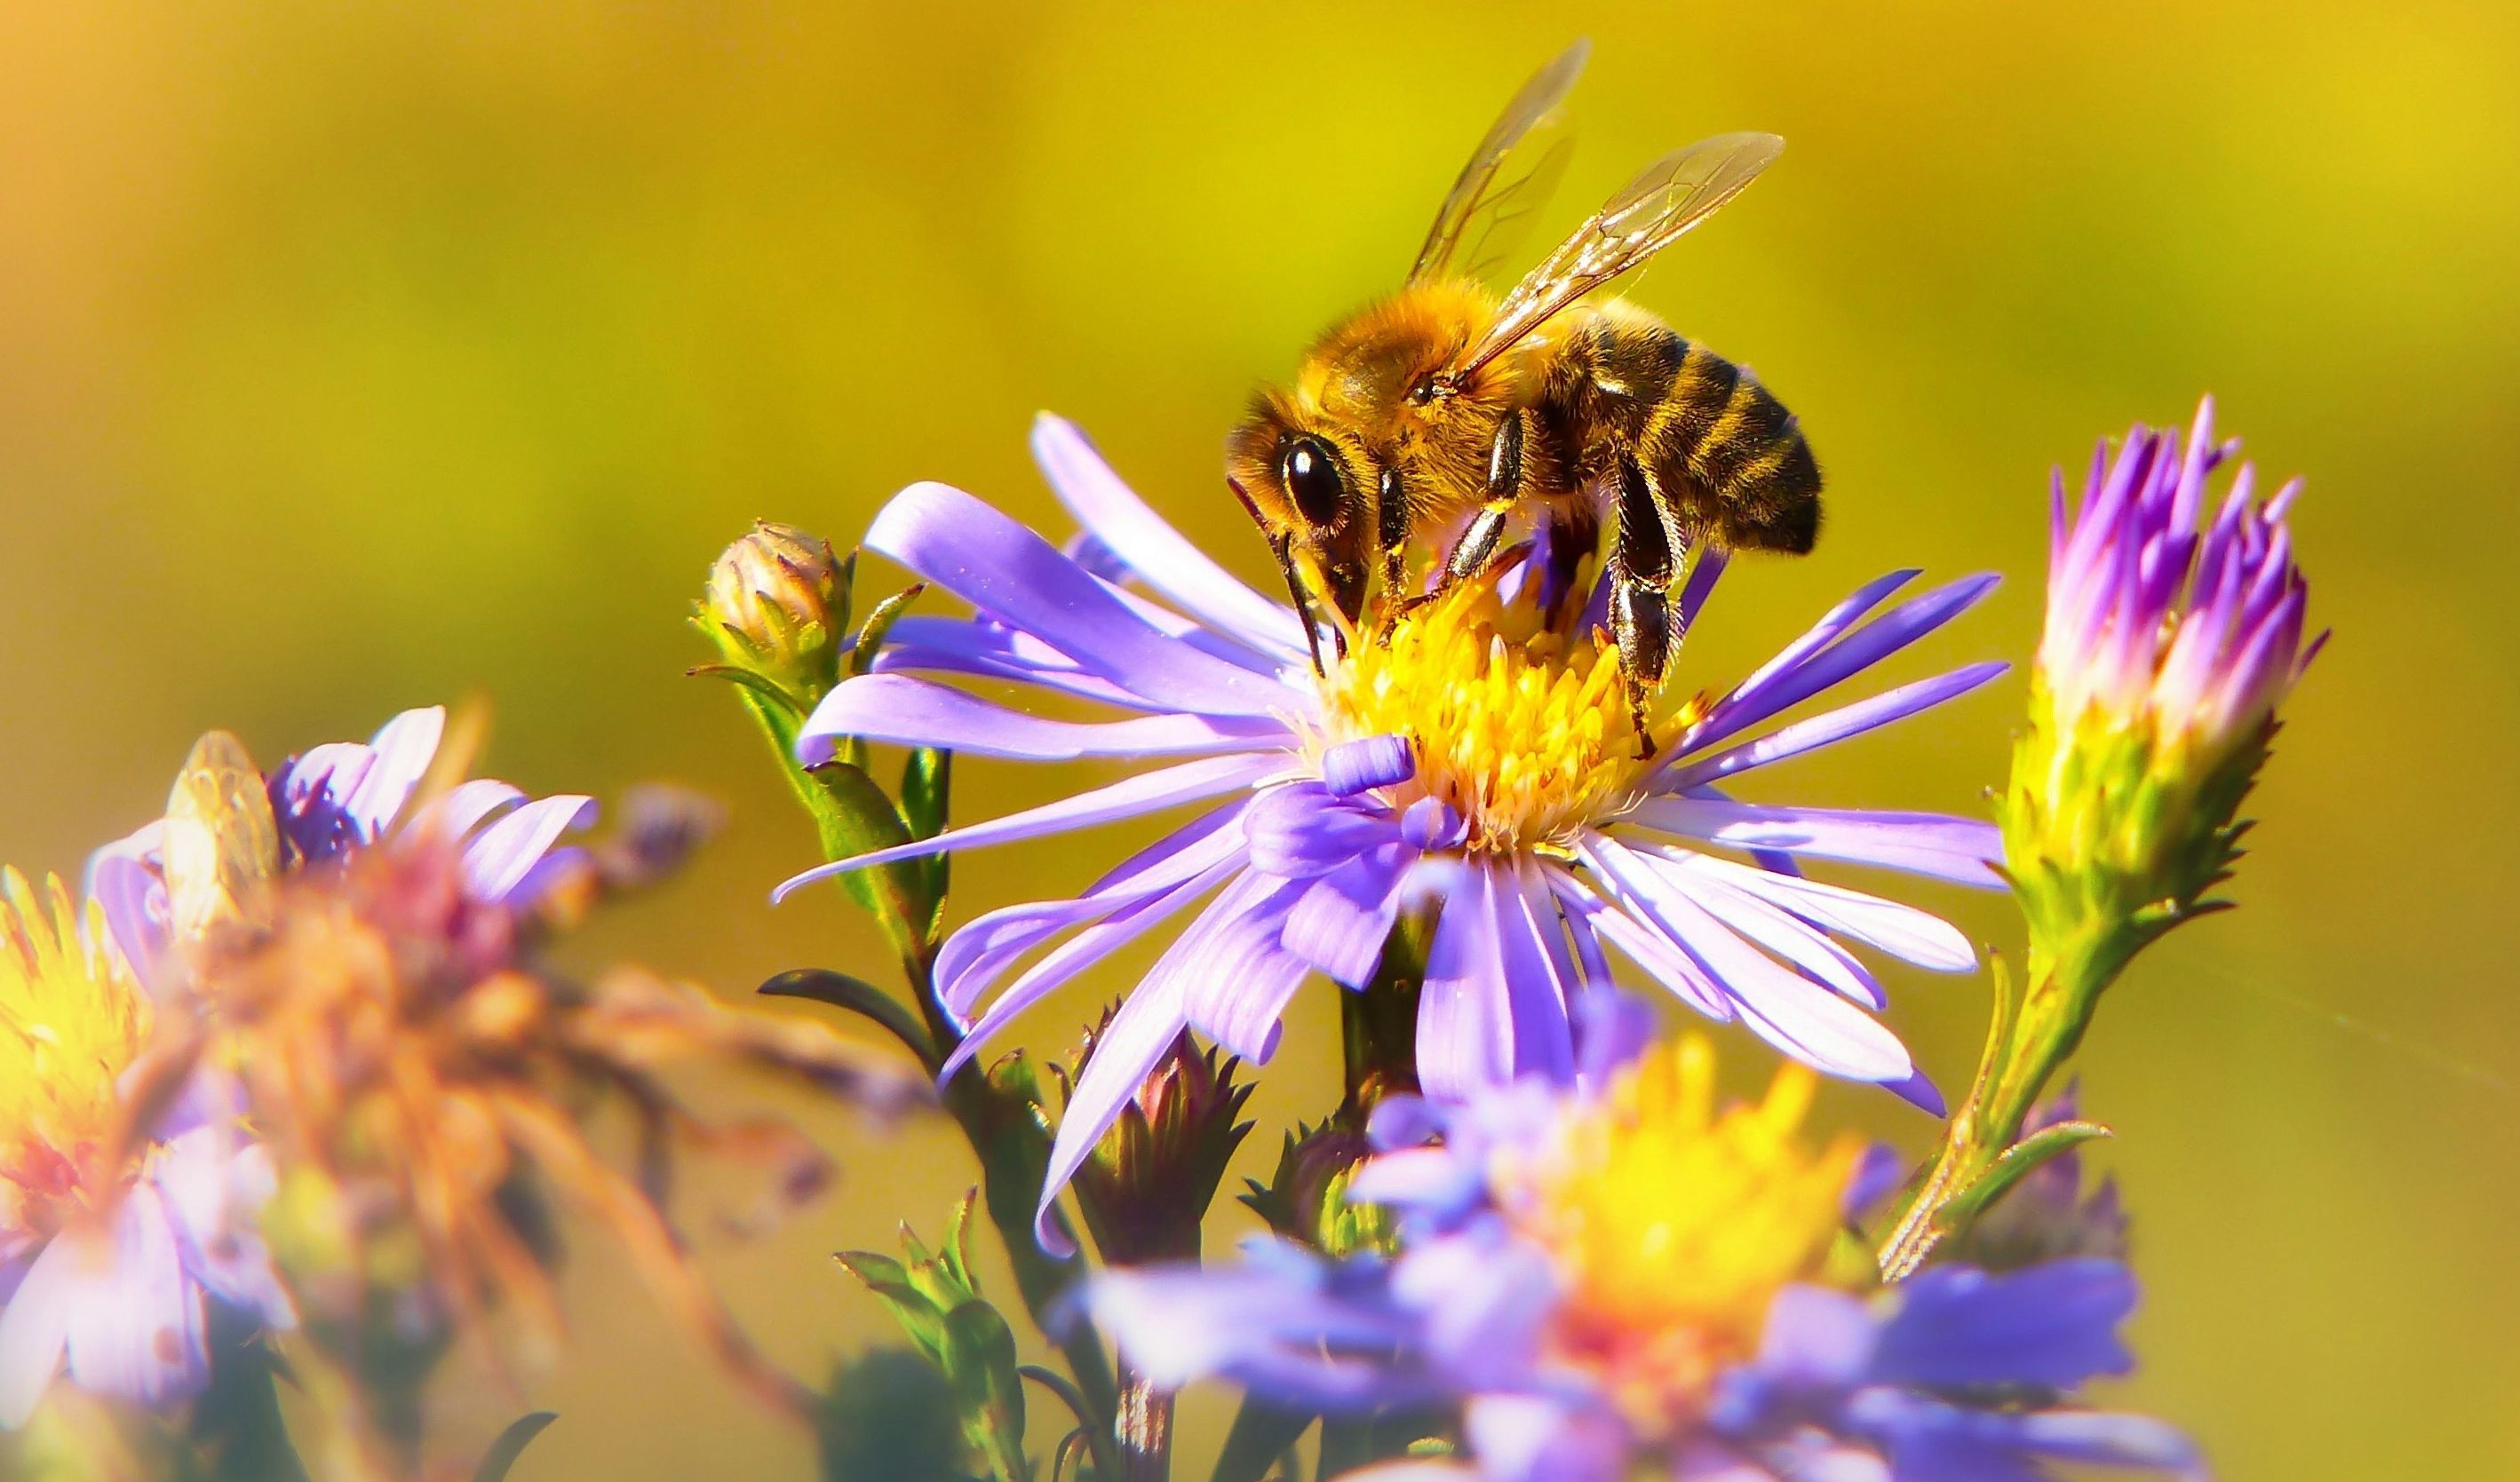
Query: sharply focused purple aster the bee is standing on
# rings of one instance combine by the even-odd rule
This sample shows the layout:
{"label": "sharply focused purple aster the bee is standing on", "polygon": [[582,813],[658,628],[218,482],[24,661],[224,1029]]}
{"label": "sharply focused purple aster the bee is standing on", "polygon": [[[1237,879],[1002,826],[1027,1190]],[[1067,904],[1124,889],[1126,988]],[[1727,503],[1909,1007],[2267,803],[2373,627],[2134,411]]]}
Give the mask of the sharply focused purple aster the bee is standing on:
{"label": "sharply focused purple aster the bee is standing on", "polygon": [[[1799,862],[1991,887],[1993,829],[1749,804],[1731,786],[1993,678],[2001,665],[1978,663],[1772,726],[1963,612],[1993,577],[1890,610],[1915,572],[1880,577],[1721,698],[1676,698],[1648,746],[1595,615],[1547,590],[1562,585],[1547,552],[1527,547],[1492,580],[1341,645],[1315,673],[1298,615],[1164,524],[1074,426],[1041,418],[1033,451],[1089,534],[1061,552],[958,489],[895,497],[867,549],[978,612],[902,618],[874,673],[814,711],[799,756],[827,761],[847,736],[1139,769],[809,870],[779,895],[912,854],[1200,809],[1084,895],[988,912],[937,958],[937,993],[970,1028],[968,1056],[1051,988],[1205,900],[1079,1079],[1043,1207],[1182,1028],[1265,1061],[1310,973],[1361,988],[1401,912],[1426,902],[1441,905],[1416,1066],[1434,1096],[1570,1074],[1570,1003],[1608,980],[1615,950],[1711,1018],[1930,1104],[1898,1036],[1872,1018],[1882,991],[1847,943],[1958,973],[1973,965],[1968,940],[1915,907],[1804,880]],[[1721,565],[1706,557],[1688,572],[1686,620]],[[940,678],[1011,681],[1119,716],[1051,718]],[[1043,1240],[1058,1235],[1043,1227]]]}

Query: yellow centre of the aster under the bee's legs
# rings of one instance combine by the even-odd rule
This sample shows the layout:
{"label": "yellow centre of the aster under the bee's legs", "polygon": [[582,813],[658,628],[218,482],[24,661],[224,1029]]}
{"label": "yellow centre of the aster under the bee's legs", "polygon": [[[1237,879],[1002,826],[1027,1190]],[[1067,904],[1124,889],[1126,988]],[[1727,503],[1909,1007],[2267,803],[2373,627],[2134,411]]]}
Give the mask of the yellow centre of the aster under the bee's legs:
{"label": "yellow centre of the aster under the bee's legs", "polygon": [[[1358,635],[1323,681],[1323,711],[1331,741],[1406,736],[1416,779],[1386,791],[1452,804],[1472,852],[1565,847],[1633,807],[1648,769],[1610,638],[1545,630],[1537,607],[1507,607],[1484,580],[1401,615],[1389,640]],[[1656,749],[1696,711],[1656,721]]]}

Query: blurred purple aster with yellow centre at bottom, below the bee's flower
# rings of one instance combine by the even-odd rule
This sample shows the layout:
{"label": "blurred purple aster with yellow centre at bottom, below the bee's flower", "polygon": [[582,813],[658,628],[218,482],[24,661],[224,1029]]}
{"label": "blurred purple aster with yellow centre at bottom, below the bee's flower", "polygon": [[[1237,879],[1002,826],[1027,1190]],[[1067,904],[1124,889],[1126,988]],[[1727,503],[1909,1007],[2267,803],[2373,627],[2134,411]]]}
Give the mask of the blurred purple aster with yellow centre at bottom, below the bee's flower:
{"label": "blurred purple aster with yellow centre at bottom, below the bee's flower", "polygon": [[[1588,1013],[1585,1038],[1620,1061],[1638,1006]],[[1683,1038],[1585,1091],[1530,1079],[1472,1106],[1394,1099],[1376,1117],[1389,1152],[1351,1192],[1401,1215],[1401,1255],[1263,1240],[1240,1268],[1106,1270],[1086,1308],[1157,1384],[1230,1379],[1320,1414],[1462,1404],[1464,1459],[1376,1479],[2195,1467],[2175,1429],[2071,1404],[2129,1369],[2124,1265],[1938,1265],[1872,1290],[1865,1255],[1837,1258],[1860,1149],[1797,1144],[1809,1089],[1787,1066],[1767,1101],[1719,1112],[1711,1054]]]}

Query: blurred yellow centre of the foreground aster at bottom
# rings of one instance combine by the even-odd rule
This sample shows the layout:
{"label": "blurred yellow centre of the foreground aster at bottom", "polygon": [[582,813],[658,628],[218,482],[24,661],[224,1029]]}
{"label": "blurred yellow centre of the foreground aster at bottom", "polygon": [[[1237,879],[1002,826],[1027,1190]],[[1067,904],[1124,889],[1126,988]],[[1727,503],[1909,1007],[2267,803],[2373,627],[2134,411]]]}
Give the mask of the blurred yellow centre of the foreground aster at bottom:
{"label": "blurred yellow centre of the foreground aster at bottom", "polygon": [[1860,1142],[1797,1142],[1817,1076],[1787,1064],[1756,1106],[1716,1112],[1714,1048],[1686,1036],[1575,1112],[1547,1154],[1499,1169],[1507,1215],[1555,1253],[1560,1358],[1648,1427],[1696,1414],[1759,1348],[1777,1290],[1822,1275]]}

